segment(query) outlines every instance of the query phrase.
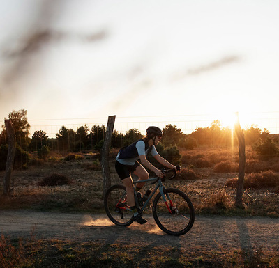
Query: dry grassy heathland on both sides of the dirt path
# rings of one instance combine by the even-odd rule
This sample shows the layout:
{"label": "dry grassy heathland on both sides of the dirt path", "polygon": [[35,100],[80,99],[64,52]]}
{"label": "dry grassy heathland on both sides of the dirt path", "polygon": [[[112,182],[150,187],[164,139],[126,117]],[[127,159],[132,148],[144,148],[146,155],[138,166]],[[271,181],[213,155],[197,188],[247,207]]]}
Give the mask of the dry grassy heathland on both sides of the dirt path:
{"label": "dry grassy heathland on both sides of the dirt path", "polygon": [[[166,186],[185,191],[197,215],[279,217],[278,159],[257,159],[246,153],[246,188],[243,207],[234,206],[238,151],[225,148],[199,148],[181,152],[182,172]],[[65,156],[65,155],[64,155]],[[112,152],[112,184],[119,183],[114,171]],[[13,171],[13,195],[1,196],[1,210],[37,212],[104,213],[103,179],[96,155],[78,155],[65,161],[53,155],[51,161],[36,162],[25,170]],[[254,172],[253,172],[254,171]],[[4,173],[1,173],[3,178]],[[62,185],[43,186],[51,182]],[[2,189],[0,189],[2,190]],[[151,213],[151,210],[149,211]],[[76,243],[70,240],[8,239],[1,237],[3,267],[49,267],[55,255],[55,267],[278,267],[278,249],[246,251],[197,249],[191,254],[175,246],[151,246],[148,258],[131,244],[102,244],[98,241]],[[147,246],[148,248],[148,246]],[[13,252],[9,262],[5,249]],[[19,250],[20,249],[20,250]],[[219,258],[217,260],[216,258]],[[92,266],[96,263],[96,266]],[[12,262],[15,265],[11,265]],[[1,263],[1,262],[0,262]],[[6,264],[5,264],[6,263]],[[37,265],[37,266],[36,266]]]}

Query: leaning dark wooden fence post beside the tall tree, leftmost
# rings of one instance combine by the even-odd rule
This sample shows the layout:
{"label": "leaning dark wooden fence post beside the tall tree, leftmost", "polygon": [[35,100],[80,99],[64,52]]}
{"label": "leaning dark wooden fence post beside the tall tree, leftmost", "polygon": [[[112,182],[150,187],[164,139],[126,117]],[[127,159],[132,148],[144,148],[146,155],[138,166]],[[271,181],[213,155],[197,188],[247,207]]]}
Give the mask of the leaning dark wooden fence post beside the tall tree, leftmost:
{"label": "leaning dark wooden fence post beside the tall tree, leftmost", "polygon": [[10,120],[5,120],[5,127],[8,136],[8,155],[6,161],[6,173],[3,181],[3,195],[10,194],[10,177],[13,171],[13,161],[15,159],[15,132]]}

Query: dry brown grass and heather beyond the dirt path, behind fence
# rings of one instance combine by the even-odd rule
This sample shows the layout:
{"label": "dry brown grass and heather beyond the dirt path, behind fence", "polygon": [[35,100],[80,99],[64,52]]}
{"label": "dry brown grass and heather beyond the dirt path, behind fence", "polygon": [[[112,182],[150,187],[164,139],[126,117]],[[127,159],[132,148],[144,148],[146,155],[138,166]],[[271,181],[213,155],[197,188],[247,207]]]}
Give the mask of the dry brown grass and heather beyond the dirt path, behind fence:
{"label": "dry brown grass and heather beyond the dirt path, behind fence", "polygon": [[[266,166],[277,167],[276,160],[259,160],[248,150],[246,154],[248,169],[252,171],[252,166],[257,166],[257,172],[246,173],[247,190],[243,194],[245,207],[243,210],[236,210],[234,199],[238,174],[235,169],[238,151],[224,148],[206,148],[206,150],[199,148],[183,151],[181,154],[184,159],[187,159],[188,164],[182,165],[179,177],[171,181],[166,180],[165,185],[186,192],[193,200],[197,214],[279,216],[279,207],[274,206],[278,203],[278,173],[265,170]],[[59,155],[55,157],[61,159]],[[210,162],[210,167],[199,162],[198,166],[206,167],[197,168],[195,163],[199,159],[206,163]],[[110,164],[112,184],[121,183],[114,170],[113,159]],[[259,166],[264,171],[260,171]],[[40,182],[45,178],[51,178],[54,174],[63,175],[72,183],[39,186]],[[54,182],[56,181],[57,178]],[[27,170],[14,171],[12,187],[13,196],[0,196],[1,209],[103,212],[103,179],[100,161],[93,157],[84,157],[75,161],[48,161],[43,165],[31,166]]]}

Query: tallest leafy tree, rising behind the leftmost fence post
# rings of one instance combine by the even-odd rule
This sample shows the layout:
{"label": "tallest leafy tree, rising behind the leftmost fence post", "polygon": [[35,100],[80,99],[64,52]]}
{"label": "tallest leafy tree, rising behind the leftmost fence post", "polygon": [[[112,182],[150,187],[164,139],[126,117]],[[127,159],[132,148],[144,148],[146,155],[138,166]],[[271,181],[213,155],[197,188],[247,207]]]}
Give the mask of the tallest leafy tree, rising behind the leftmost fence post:
{"label": "tallest leafy tree, rising behind the leftmost fence post", "polygon": [[[13,125],[15,131],[15,141],[21,148],[27,148],[30,143],[29,129],[30,125],[27,120],[27,110],[21,109],[20,111],[13,110],[8,118]],[[6,132],[6,130],[4,130]],[[2,132],[3,134],[3,132]]]}

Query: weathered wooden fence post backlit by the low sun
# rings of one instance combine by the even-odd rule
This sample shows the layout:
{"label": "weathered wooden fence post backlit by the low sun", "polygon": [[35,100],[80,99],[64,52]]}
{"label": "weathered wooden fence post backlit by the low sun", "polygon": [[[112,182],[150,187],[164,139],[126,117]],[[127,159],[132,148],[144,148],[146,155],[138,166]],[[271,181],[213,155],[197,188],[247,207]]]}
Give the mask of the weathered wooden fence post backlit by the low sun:
{"label": "weathered wooden fence post backlit by the low sun", "polygon": [[244,133],[239,123],[239,113],[236,113],[236,116],[237,116],[237,120],[236,123],[234,124],[234,130],[236,132],[236,136],[239,141],[239,180],[237,182],[235,205],[238,207],[242,207],[243,184],[244,184],[245,161],[246,161],[245,139],[244,139]]}

